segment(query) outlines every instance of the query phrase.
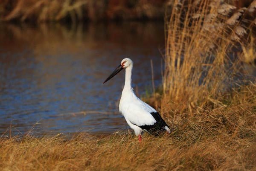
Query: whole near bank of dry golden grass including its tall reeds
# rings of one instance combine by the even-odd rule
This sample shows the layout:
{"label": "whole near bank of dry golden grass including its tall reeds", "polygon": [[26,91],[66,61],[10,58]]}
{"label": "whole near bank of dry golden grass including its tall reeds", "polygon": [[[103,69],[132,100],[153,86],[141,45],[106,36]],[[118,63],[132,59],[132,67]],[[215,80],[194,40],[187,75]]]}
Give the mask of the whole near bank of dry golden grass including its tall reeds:
{"label": "whole near bank of dry golden grass including its tall reeds", "polygon": [[177,1],[166,14],[163,87],[153,99],[171,134],[145,133],[141,143],[132,133],[2,138],[0,170],[256,170],[256,84],[244,70],[255,65],[256,5],[212,2]]}

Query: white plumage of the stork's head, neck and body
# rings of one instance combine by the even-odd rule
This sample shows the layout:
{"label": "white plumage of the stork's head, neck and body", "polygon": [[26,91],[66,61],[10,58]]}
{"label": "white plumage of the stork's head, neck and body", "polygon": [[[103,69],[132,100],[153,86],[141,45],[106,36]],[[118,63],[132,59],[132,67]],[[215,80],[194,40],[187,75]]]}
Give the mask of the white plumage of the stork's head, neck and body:
{"label": "white plumage of the stork's head, neck and body", "polygon": [[[157,122],[151,115],[151,113],[157,113],[157,111],[135,95],[134,90],[131,87],[133,62],[129,58],[125,58],[124,60],[129,60],[130,64],[128,67],[125,67],[125,86],[122,90],[119,111],[125,117],[128,125],[134,130],[135,135],[139,136],[143,131],[140,126],[154,125]],[[170,129],[167,126],[165,129],[170,132]]]}

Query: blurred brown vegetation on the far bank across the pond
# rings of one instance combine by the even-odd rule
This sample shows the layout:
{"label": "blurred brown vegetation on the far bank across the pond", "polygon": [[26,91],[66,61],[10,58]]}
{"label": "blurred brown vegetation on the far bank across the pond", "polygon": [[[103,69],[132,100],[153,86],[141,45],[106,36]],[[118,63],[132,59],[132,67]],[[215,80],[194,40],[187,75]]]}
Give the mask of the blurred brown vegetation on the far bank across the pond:
{"label": "blurred brown vegetation on the far bank across the pond", "polygon": [[166,0],[1,0],[2,21],[162,19]]}

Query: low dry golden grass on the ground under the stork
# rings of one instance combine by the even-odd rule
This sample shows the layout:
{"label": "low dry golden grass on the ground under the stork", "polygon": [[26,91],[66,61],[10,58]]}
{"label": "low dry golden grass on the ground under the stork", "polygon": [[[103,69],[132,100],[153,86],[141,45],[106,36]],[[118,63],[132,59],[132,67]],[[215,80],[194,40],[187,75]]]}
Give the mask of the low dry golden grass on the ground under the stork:
{"label": "low dry golden grass on the ground under the stork", "polygon": [[[229,104],[166,118],[161,137],[130,133],[97,138],[24,136],[0,139],[1,171],[253,171],[256,170],[256,85]],[[183,104],[180,104],[183,105]]]}

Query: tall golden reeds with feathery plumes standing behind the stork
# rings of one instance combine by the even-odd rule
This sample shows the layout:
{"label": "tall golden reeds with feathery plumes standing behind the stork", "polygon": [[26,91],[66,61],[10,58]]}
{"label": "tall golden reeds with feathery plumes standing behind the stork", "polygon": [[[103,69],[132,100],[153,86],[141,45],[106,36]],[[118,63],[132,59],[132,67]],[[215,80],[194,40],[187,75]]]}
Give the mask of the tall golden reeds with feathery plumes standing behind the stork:
{"label": "tall golden reeds with feathery plumes standing behind the stork", "polygon": [[[162,110],[192,112],[224,105],[219,99],[233,88],[240,60],[248,56],[241,47],[253,42],[248,35],[255,27],[255,0],[240,9],[221,0],[175,0],[170,8]],[[253,60],[253,51],[248,52]]]}

